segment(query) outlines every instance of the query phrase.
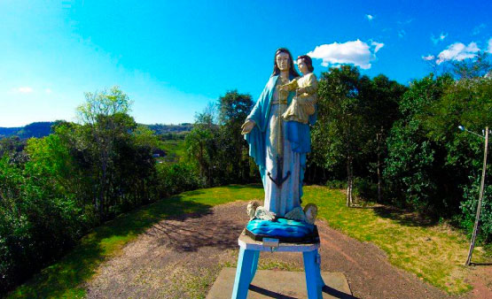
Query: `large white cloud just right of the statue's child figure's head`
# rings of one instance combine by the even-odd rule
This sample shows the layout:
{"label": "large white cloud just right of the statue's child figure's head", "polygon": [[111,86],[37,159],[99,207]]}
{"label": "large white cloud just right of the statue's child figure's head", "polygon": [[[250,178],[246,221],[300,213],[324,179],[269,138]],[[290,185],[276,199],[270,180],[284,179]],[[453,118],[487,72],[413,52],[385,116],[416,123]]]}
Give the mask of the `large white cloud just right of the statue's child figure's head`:
{"label": "large white cloud just right of the statue's child figure's head", "polygon": [[321,65],[341,65],[353,64],[367,70],[371,68],[371,61],[376,59],[376,52],[384,46],[382,42],[352,42],[322,44],[316,46],[315,50],[308,53],[308,56],[316,59],[323,59]]}

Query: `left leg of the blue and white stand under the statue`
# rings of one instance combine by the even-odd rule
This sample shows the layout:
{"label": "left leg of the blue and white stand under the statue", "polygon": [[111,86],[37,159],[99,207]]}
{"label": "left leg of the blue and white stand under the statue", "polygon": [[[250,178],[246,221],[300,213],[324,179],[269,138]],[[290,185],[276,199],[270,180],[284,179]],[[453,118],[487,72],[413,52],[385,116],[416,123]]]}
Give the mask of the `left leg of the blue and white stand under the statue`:
{"label": "left leg of the blue and white stand under the statue", "polygon": [[[232,299],[246,299],[249,283],[253,280],[254,250],[239,249],[236,279],[232,290]],[[256,271],[256,267],[254,267]]]}

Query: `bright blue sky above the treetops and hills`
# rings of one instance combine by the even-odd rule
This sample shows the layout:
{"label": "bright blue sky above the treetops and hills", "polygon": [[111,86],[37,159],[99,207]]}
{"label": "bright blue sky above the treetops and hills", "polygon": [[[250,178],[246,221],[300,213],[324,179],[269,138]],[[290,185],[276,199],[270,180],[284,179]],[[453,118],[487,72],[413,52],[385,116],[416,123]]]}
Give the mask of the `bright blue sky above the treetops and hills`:
{"label": "bright blue sky above the treetops and hills", "polygon": [[192,122],[227,90],[260,95],[273,54],[319,75],[352,63],[408,84],[434,61],[492,51],[490,1],[0,0],[0,126],[75,120],[119,85],[137,122]]}

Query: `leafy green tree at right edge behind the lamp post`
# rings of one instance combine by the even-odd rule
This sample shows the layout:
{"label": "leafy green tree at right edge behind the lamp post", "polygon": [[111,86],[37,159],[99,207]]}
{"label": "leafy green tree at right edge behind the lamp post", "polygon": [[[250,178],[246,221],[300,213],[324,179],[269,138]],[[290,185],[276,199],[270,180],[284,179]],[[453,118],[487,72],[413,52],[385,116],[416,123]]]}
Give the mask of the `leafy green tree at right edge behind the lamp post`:
{"label": "leafy green tree at right edge behind the lamp post", "polygon": [[[483,139],[463,133],[457,126],[481,133],[492,123],[492,78],[475,77],[456,80],[445,88],[441,98],[433,103],[424,118],[427,137],[439,144],[443,155],[441,164],[445,172],[436,181],[441,190],[446,212],[457,215],[462,212],[462,226],[471,226],[477,208],[478,190],[483,160]],[[489,185],[492,170],[488,168]],[[491,195],[484,193],[482,234],[492,239],[490,215]]]}

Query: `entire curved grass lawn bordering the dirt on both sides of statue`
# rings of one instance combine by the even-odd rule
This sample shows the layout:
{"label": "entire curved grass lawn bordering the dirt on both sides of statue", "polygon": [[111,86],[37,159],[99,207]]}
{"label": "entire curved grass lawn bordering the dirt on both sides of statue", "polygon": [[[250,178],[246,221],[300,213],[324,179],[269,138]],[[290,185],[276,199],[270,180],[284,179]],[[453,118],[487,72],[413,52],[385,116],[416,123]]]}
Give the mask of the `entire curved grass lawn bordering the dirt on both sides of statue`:
{"label": "entire curved grass lawn bordering the dirt on both sides of statue", "polygon": [[[98,265],[118,255],[126,243],[160,219],[207,212],[216,204],[262,197],[261,186],[232,185],[184,192],[152,203],[99,226],[66,257],[15,289],[9,297],[83,297],[83,282],[90,280]],[[468,240],[448,226],[384,207],[348,209],[340,190],[324,187],[306,187],[303,202],[316,203],[319,217],[330,226],[360,241],[375,243],[387,252],[392,264],[414,272],[434,286],[451,293],[471,288],[464,281],[467,270],[463,266]],[[484,256],[475,250],[473,261],[484,262]]]}

